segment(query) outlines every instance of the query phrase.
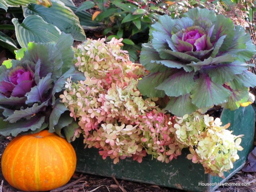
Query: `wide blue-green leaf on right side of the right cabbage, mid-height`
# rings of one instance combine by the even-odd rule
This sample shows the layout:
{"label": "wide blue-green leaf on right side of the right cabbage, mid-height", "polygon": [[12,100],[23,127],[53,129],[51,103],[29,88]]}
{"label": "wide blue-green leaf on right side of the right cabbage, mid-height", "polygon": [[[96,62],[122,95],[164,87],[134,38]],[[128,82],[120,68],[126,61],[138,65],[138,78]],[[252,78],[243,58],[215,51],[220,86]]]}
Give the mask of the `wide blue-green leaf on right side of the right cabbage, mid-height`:
{"label": "wide blue-green leaf on right side of the right cabbage, mid-height", "polygon": [[217,84],[224,84],[233,80],[236,74],[241,74],[248,69],[246,64],[233,62],[229,64],[213,65],[203,68],[211,77],[211,80]]}

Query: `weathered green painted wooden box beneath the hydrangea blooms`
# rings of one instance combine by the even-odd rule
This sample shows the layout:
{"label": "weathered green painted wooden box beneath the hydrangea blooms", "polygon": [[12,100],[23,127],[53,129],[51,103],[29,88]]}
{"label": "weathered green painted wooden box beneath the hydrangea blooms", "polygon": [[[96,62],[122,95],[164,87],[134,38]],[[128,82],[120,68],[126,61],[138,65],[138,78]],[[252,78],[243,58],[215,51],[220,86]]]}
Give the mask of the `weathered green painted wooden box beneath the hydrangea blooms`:
{"label": "weathered green painted wooden box beneath the hydrangea blooms", "polygon": [[221,120],[223,124],[231,123],[229,129],[233,130],[235,135],[244,135],[241,143],[244,150],[239,152],[240,159],[234,163],[234,168],[225,174],[225,179],[204,174],[202,165],[186,159],[188,150],[183,150],[183,154],[170,163],[161,163],[148,155],[143,158],[142,163],[126,158],[114,165],[113,160],[109,158],[103,160],[98,154],[98,149],[84,149],[82,139],[73,142],[77,155],[76,170],[106,177],[114,175],[120,179],[195,192],[214,191],[218,186],[199,186],[198,183],[225,182],[243,167],[254,141],[255,113],[252,106],[241,107],[235,111],[223,110]]}

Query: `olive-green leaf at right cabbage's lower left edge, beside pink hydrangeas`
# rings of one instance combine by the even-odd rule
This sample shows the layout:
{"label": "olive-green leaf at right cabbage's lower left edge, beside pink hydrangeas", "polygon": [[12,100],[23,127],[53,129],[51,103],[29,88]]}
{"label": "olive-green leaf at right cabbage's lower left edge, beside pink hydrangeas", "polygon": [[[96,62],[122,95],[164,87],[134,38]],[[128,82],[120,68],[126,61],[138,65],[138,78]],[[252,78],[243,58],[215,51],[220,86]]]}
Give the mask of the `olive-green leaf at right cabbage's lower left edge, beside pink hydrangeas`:
{"label": "olive-green leaf at right cabbage's lower left edge, beside pink hydrangeas", "polygon": [[156,87],[167,79],[171,73],[171,71],[150,73],[146,77],[143,77],[142,80],[139,80],[139,91],[142,95],[146,95],[147,97],[164,97],[165,92],[157,90]]}

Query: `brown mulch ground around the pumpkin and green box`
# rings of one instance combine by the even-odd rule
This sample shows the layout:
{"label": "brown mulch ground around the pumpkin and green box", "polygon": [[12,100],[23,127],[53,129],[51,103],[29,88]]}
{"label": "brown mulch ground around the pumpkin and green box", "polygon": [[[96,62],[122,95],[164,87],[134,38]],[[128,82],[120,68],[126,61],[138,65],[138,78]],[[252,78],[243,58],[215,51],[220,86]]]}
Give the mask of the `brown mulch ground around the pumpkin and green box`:
{"label": "brown mulch ground around the pumpkin and green box", "polygon": [[[0,159],[9,143],[10,138],[0,139]],[[256,192],[256,172],[238,172],[230,178],[228,183],[250,183],[250,187],[246,186],[227,186],[219,188],[215,192]],[[11,187],[0,171],[0,192],[20,192]],[[101,177],[89,174],[75,172],[70,181],[57,189],[50,192],[186,192],[172,188],[159,187],[156,185],[148,185],[144,183],[136,183],[115,179],[115,177]]]}

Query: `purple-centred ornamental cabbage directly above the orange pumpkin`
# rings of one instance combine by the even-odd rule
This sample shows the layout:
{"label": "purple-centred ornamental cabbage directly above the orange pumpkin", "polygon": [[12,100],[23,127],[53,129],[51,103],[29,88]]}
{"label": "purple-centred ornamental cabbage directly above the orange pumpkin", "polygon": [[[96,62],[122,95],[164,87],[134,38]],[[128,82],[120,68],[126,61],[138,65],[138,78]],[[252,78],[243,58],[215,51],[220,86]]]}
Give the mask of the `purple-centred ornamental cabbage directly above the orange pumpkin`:
{"label": "purple-centred ornamental cabbage directly above the orange pumpkin", "polygon": [[61,129],[73,123],[65,105],[56,99],[67,77],[85,79],[72,64],[72,43],[65,33],[56,43],[30,42],[16,52],[16,60],[6,60],[0,66],[1,135],[16,136],[47,127],[61,135]]}

